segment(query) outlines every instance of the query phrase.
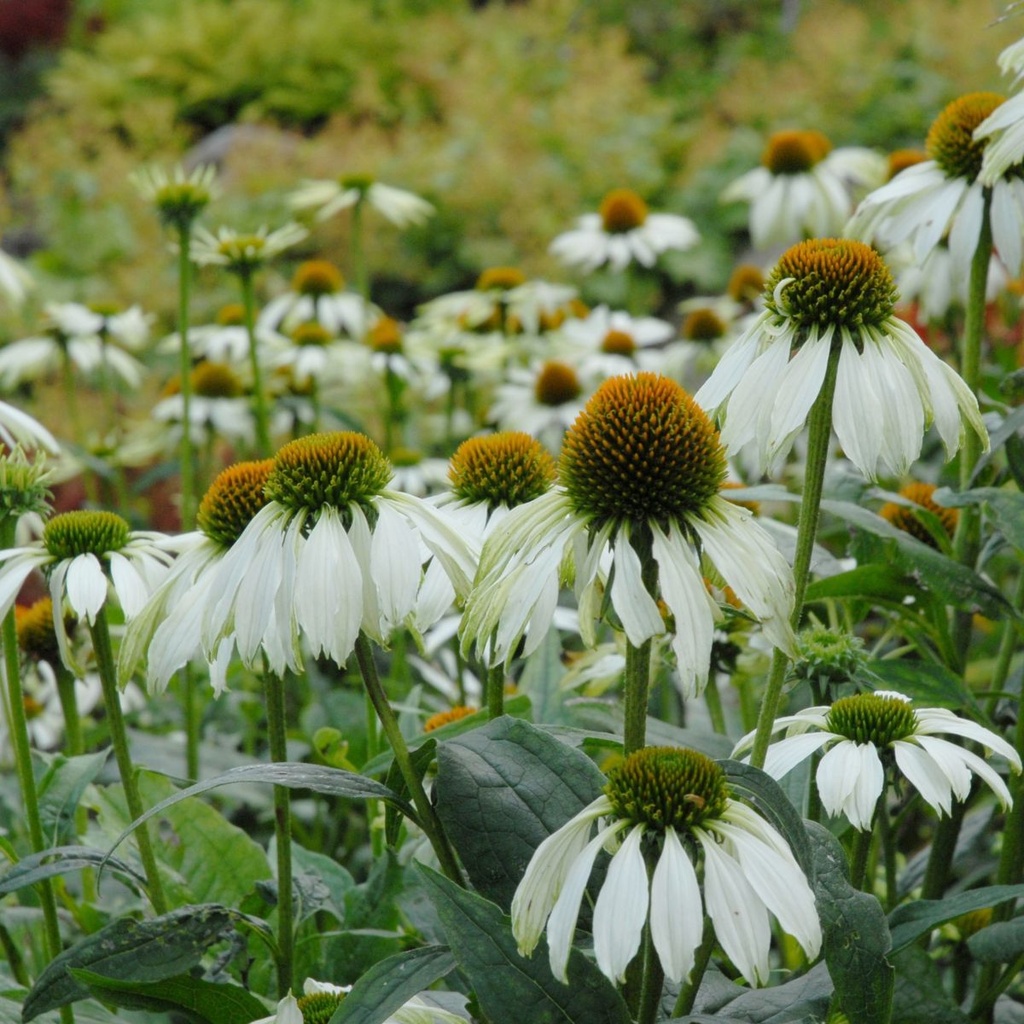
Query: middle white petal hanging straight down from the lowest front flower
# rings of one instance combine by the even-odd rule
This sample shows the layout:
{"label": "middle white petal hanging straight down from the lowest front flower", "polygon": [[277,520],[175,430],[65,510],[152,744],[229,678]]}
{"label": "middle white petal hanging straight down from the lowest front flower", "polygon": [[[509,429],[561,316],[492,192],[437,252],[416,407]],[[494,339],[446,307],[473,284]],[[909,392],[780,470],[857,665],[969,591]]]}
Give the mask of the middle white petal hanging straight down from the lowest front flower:
{"label": "middle white petal hanging straight down from the lowest front flower", "polygon": [[703,936],[703,901],[696,871],[671,825],[650,884],[650,934],[665,976],[677,985],[687,980]]}

